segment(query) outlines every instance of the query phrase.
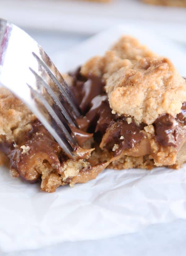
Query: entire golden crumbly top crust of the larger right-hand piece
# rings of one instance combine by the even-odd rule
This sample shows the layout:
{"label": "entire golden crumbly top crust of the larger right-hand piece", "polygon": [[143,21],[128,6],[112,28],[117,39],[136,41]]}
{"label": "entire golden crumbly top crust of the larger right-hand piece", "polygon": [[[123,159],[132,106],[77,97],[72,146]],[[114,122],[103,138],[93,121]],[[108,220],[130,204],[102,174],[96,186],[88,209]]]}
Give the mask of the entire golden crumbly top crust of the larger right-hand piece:
{"label": "entire golden crumbly top crust of the larger right-hand piece", "polygon": [[134,117],[136,123],[152,124],[164,113],[175,117],[186,100],[186,81],[170,60],[130,36],[123,36],[103,57],[87,61],[81,73],[103,77],[111,109]]}

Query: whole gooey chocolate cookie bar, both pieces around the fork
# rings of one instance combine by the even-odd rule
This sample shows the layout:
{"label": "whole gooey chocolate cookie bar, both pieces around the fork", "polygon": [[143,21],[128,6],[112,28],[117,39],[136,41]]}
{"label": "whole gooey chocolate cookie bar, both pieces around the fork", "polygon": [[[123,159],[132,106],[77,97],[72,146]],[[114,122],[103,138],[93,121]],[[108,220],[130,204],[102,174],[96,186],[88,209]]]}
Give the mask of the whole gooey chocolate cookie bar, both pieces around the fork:
{"label": "whole gooey chocolate cookie bar, both pieces around the fork", "polygon": [[171,61],[123,36],[104,56],[63,75],[82,112],[73,133],[79,159],[71,160],[42,123],[0,88],[1,163],[41,190],[84,183],[113,169],[186,161],[186,81]]}

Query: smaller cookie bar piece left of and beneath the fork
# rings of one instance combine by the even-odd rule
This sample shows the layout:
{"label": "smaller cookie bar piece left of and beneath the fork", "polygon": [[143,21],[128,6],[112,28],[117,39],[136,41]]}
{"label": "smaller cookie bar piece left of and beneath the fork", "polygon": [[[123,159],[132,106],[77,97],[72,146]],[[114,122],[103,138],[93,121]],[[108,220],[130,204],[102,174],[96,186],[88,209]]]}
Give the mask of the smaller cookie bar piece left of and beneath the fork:
{"label": "smaller cookie bar piece left of and beneath the fork", "polygon": [[84,160],[93,150],[93,134],[79,129],[74,133],[81,134],[77,140],[86,149],[80,148],[79,160],[68,159],[36,116],[5,88],[0,88],[0,113],[0,160],[4,164],[9,159],[13,177],[29,183],[41,181],[41,190],[54,192],[60,185],[93,179],[108,165],[92,166]]}

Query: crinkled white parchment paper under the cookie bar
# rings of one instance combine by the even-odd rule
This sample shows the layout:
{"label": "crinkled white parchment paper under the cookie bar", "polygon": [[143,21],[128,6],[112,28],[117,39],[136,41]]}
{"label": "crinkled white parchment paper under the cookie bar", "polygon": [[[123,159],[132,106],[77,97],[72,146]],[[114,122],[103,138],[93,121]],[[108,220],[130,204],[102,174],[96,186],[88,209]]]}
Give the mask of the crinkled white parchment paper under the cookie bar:
{"label": "crinkled white parchment paper under the cookie bar", "polygon": [[[186,53],[149,31],[118,26],[68,53],[53,56],[61,71],[83,63],[122,34],[146,41],[169,56],[184,75]],[[184,68],[183,68],[184,65]],[[138,231],[154,223],[186,219],[186,169],[104,170],[86,184],[40,191],[0,169],[0,251],[35,249],[63,241],[100,239]]]}

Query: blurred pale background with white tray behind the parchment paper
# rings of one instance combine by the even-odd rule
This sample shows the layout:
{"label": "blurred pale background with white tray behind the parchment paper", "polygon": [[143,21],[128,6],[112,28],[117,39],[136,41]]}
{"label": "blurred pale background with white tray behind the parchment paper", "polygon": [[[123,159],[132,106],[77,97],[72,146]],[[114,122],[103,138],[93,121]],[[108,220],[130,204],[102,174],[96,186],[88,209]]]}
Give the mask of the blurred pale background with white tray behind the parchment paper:
{"label": "blurred pale background with white tray behind the parchment paper", "polygon": [[185,0],[1,0],[0,16],[26,30],[49,55],[118,23],[186,44]]}

